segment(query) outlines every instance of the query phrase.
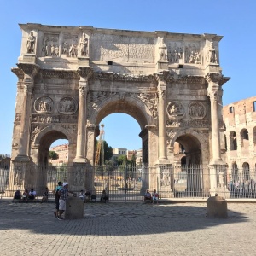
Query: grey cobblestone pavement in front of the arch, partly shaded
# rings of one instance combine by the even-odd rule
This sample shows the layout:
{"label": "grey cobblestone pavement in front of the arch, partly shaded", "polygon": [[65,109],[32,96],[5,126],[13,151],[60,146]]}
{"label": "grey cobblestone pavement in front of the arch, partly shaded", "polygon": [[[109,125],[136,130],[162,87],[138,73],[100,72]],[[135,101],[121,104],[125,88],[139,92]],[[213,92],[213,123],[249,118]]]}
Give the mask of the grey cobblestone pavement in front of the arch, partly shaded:
{"label": "grey cobblestone pavement in front of the arch, partly shaded", "polygon": [[84,218],[57,220],[54,203],[0,201],[0,255],[256,255],[256,205],[87,203]]}

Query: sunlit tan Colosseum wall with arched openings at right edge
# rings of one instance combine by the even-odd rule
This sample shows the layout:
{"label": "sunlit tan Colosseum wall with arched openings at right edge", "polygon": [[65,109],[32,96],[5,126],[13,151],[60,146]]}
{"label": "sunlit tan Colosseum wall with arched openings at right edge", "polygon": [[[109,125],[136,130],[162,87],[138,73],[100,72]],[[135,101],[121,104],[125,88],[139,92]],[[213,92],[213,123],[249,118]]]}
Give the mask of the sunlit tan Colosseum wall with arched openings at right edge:
{"label": "sunlit tan Colosseum wall with arched openings at right edge", "polygon": [[254,187],[256,183],[256,96],[224,106],[223,117],[228,185],[236,188]]}

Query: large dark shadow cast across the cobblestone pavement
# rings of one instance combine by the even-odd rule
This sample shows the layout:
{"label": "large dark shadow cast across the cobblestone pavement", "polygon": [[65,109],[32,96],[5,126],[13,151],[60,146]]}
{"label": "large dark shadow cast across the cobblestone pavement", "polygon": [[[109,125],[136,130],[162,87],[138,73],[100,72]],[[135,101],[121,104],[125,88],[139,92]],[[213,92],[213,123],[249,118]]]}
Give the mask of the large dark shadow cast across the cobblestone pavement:
{"label": "large dark shadow cast across the cobblestone pavement", "polygon": [[31,230],[38,234],[136,236],[188,232],[223,224],[246,222],[248,217],[228,210],[229,218],[207,218],[206,204],[151,205],[143,203],[84,204],[84,218],[57,220],[54,204],[0,202],[1,230]]}

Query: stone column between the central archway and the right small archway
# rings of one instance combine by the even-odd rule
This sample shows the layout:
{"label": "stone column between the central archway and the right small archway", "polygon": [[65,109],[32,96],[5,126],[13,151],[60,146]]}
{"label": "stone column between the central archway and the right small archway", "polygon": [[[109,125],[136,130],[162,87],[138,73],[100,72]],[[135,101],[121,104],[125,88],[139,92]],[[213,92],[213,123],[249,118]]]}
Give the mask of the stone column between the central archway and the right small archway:
{"label": "stone column between the central archway and the right small archway", "polygon": [[158,79],[158,136],[159,136],[159,162],[164,163],[167,160],[166,149],[166,79],[169,72],[163,71],[157,74]]}

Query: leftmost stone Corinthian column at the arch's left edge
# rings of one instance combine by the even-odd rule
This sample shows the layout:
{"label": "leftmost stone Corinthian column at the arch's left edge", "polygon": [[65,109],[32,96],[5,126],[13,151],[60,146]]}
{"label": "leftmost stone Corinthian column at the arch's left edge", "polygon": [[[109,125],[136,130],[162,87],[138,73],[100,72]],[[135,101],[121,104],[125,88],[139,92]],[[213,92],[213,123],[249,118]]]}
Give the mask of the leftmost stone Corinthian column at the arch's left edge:
{"label": "leftmost stone Corinthian column at the arch's left edge", "polygon": [[29,161],[28,143],[29,131],[31,123],[31,106],[32,106],[32,88],[34,86],[34,76],[38,73],[38,65],[35,64],[17,64],[20,70],[24,73],[23,81],[20,83],[23,88],[23,96],[18,96],[17,99],[22,99],[21,119],[20,119],[20,139],[18,145],[18,155],[15,161]]}

